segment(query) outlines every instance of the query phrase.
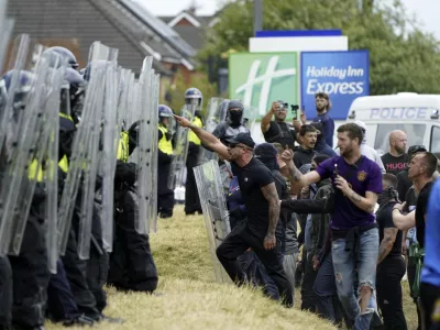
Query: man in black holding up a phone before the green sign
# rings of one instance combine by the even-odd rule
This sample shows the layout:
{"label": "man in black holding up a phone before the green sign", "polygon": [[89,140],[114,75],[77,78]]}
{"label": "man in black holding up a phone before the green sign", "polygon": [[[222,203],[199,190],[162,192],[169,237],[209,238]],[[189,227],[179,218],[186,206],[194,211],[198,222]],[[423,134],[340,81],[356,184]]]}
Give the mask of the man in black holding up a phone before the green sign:
{"label": "man in black holding up a phone before the green sign", "polygon": [[[275,101],[272,103],[271,110],[262,118],[261,129],[264,140],[270,143],[277,142],[288,145],[289,148],[295,147],[295,131],[288,123],[285,122],[287,117],[288,105],[284,101]],[[275,120],[272,120],[275,117]]]}

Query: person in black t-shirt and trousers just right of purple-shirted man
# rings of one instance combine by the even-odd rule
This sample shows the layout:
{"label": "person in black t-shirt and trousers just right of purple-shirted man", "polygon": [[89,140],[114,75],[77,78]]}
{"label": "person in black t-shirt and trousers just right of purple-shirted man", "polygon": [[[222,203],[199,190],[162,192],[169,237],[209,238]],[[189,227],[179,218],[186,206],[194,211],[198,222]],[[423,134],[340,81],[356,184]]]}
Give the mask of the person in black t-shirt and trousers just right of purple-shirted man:
{"label": "person in black t-shirt and trousers just right of purple-shirted man", "polygon": [[393,223],[393,207],[397,204],[397,178],[393,174],[382,177],[384,191],[378,196],[376,221],[380,230],[376,289],[377,304],[385,329],[407,329],[402,302],[400,280],[405,275],[402,257],[402,231]]}

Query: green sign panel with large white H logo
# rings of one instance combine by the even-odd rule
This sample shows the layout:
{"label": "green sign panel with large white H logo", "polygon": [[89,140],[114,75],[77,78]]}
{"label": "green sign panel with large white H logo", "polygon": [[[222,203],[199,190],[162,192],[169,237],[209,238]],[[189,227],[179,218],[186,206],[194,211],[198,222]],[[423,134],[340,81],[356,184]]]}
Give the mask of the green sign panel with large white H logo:
{"label": "green sign panel with large white H logo", "polygon": [[[297,64],[297,53],[231,54],[229,97],[258,109],[258,119],[273,101],[299,105]],[[292,119],[290,111],[288,119]]]}

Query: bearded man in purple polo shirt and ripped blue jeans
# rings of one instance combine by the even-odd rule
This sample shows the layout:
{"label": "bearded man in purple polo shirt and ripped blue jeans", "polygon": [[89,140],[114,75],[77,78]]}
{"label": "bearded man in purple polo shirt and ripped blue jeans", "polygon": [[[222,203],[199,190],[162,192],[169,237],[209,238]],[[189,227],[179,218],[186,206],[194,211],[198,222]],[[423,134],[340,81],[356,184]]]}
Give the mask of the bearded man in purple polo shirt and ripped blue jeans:
{"label": "bearded man in purple polo shirt and ripped blue jeans", "polygon": [[[331,178],[334,186],[334,210],[331,217],[331,249],[338,296],[355,329],[370,329],[376,308],[373,295],[376,280],[378,230],[374,216],[377,195],[382,193],[382,173],[376,163],[361,154],[363,133],[354,123],[338,129],[341,156],[321,163],[302,175],[293,152],[285,150],[283,161],[290,170],[290,182],[306,187]],[[359,298],[353,290],[354,271],[359,274]]]}

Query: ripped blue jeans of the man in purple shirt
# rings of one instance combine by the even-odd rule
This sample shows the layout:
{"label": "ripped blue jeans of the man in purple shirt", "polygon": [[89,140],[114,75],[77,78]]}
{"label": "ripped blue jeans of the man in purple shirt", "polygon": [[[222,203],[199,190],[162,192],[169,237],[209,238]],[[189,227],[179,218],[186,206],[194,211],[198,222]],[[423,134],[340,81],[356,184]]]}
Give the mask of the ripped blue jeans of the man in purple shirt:
{"label": "ripped blue jeans of the man in purple shirt", "polygon": [[[339,300],[345,310],[346,317],[354,321],[354,329],[370,329],[373,312],[377,309],[375,298],[376,263],[378,254],[378,229],[361,233],[358,255],[353,251],[345,251],[345,239],[338,239],[331,243],[334,277]],[[370,287],[373,292],[365,312],[361,314],[356,296],[353,290],[355,270],[359,274],[359,287]]]}

